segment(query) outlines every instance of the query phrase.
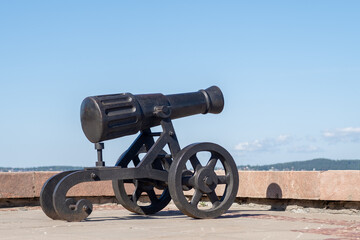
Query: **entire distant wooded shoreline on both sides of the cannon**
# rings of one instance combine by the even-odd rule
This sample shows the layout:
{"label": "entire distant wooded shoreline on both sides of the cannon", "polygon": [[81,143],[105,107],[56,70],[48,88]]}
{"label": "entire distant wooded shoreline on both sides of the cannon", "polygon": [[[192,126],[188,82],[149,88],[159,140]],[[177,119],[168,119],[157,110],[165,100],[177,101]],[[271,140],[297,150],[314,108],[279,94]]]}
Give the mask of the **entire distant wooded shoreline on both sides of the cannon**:
{"label": "entire distant wooded shoreline on both sides of the cannon", "polygon": [[[0,172],[30,172],[30,171],[69,171],[83,169],[83,167],[74,166],[48,166],[31,168],[2,168]],[[240,170],[252,171],[326,171],[326,170],[360,170],[360,160],[330,160],[318,158],[308,161],[277,163],[270,165],[238,166]]]}

